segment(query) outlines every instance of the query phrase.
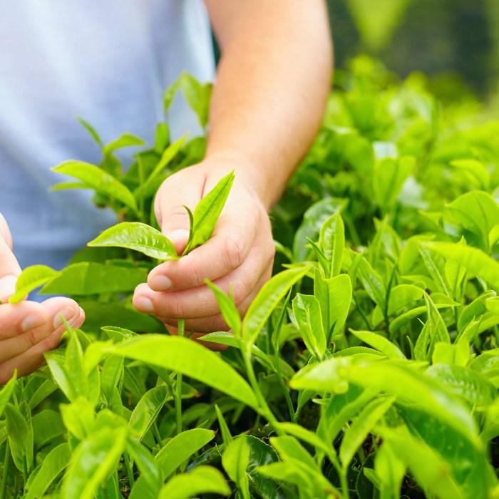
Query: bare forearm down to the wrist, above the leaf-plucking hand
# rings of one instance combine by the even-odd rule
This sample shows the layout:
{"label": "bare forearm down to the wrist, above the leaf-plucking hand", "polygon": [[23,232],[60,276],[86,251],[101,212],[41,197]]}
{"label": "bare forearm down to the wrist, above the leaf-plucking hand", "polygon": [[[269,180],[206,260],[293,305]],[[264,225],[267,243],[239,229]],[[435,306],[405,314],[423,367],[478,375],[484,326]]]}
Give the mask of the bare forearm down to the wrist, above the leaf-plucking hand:
{"label": "bare forearm down to the wrist, above the leaf-plucking hand", "polygon": [[269,208],[321,123],[332,71],[326,8],[321,0],[206,4],[222,48],[207,159],[234,163]]}

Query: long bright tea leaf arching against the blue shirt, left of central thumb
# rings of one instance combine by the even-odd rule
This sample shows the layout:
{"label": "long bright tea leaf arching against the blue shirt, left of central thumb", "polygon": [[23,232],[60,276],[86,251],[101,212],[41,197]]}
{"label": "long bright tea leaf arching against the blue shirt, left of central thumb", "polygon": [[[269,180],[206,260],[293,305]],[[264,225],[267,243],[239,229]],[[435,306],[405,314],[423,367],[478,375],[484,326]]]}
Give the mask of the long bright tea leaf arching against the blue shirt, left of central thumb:
{"label": "long bright tea leaf arching against the blue shirt, left of central thumb", "polygon": [[96,165],[83,163],[83,161],[68,160],[60,165],[52,168],[54,172],[70,175],[71,177],[81,180],[84,185],[91,187],[96,192],[112,197],[129,207],[133,211],[137,211],[137,203],[135,197],[128,190],[128,187],[123,185],[118,179],[98,168]]}

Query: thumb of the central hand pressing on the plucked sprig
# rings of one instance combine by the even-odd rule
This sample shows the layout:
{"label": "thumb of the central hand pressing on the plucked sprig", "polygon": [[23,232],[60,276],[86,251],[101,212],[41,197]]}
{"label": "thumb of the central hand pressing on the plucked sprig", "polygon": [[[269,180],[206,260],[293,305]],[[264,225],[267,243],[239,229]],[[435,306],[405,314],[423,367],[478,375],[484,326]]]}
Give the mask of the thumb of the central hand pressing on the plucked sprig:
{"label": "thumb of the central hand pressing on the plucked sprig", "polygon": [[154,208],[161,232],[173,242],[178,254],[182,254],[189,239],[189,215],[186,206],[194,211],[200,195],[175,182],[175,175],[163,182],[155,198]]}

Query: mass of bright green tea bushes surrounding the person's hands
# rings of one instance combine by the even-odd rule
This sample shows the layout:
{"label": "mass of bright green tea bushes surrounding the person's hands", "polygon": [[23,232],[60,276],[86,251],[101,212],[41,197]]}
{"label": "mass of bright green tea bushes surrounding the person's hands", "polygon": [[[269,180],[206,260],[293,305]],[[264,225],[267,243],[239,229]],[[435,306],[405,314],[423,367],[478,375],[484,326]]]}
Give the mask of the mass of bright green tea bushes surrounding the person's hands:
{"label": "mass of bright green tea bushes surrounding the person's hands", "polygon": [[[158,259],[177,257],[136,225],[155,225],[141,186],[190,164],[192,147],[161,165],[175,143],[138,153],[135,184],[105,171],[105,147],[85,178],[66,164],[128,222],[60,273],[21,279],[19,297],[44,284],[88,320],[0,391],[1,499],[499,495],[499,123],[441,108],[417,77],[366,58],[338,80],[272,214],[274,277],[244,321],[207,283],[232,333],[203,341],[222,353],[130,304]],[[195,88],[202,116],[209,92]],[[196,244],[223,205],[209,196]]]}

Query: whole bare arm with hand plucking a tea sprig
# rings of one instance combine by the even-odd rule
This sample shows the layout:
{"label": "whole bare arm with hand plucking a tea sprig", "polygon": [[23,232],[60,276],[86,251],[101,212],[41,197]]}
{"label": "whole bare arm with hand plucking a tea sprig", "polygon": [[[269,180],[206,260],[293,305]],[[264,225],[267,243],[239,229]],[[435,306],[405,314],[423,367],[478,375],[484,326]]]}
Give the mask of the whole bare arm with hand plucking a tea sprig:
{"label": "whole bare arm with hand plucking a tea sprig", "polygon": [[319,128],[331,80],[331,41],[322,0],[206,0],[222,47],[210,108],[207,155],[163,182],[158,222],[182,251],[192,210],[235,170],[227,204],[205,245],[150,272],[133,303],[187,330],[226,329],[204,279],[228,291],[242,315],[272,273],[267,212]]}

